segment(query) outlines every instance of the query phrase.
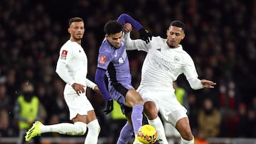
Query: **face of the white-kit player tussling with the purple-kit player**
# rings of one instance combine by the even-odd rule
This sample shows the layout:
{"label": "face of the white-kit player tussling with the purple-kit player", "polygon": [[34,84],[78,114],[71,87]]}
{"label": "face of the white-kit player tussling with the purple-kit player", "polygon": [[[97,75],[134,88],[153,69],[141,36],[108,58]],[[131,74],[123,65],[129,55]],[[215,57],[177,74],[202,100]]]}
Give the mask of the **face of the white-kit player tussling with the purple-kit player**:
{"label": "face of the white-kit player tussling with the purple-kit player", "polygon": [[181,40],[185,37],[185,33],[182,28],[171,26],[169,30],[166,31],[167,35],[167,45],[170,48],[177,48],[178,44],[181,43]]}

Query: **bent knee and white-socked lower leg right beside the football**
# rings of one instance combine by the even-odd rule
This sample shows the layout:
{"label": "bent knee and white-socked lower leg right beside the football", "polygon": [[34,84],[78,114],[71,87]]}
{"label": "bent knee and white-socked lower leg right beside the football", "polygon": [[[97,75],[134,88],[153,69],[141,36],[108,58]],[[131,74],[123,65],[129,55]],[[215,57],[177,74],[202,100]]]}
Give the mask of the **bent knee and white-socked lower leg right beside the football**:
{"label": "bent knee and white-socked lower leg right beside the football", "polygon": [[158,110],[156,109],[156,105],[153,101],[146,101],[144,104],[144,113],[148,119],[150,125],[156,128],[158,134],[158,142],[168,144],[166,139],[166,135],[164,133],[164,126],[161,122],[161,119],[158,116]]}

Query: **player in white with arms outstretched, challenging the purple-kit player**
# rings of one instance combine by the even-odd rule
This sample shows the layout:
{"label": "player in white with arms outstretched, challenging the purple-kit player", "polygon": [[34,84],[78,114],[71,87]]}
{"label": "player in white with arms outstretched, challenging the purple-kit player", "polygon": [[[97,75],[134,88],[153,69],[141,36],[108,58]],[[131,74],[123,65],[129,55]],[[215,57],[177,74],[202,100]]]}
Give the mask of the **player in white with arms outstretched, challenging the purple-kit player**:
{"label": "player in white with arms outstretched, challenging the purple-kit player", "polygon": [[[124,30],[130,30],[129,23]],[[167,39],[153,37],[146,44],[143,40],[132,40],[124,34],[127,50],[143,50],[147,55],[142,66],[142,80],[137,89],[144,100],[144,113],[149,124],[156,128],[159,143],[168,144],[164,126],[158,116],[171,123],[181,134],[182,144],[194,143],[186,109],[178,102],[173,82],[185,74],[192,89],[214,88],[215,82],[198,79],[196,67],[190,55],[180,45],[185,38],[185,25],[181,21],[171,22],[166,30]]]}

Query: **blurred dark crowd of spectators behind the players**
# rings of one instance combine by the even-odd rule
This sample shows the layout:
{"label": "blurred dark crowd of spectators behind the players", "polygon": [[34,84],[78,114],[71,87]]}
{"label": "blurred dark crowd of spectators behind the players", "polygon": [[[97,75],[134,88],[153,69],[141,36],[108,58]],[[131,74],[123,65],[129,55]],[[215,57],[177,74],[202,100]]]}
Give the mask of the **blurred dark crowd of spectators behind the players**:
{"label": "blurred dark crowd of spectators behind the players", "polygon": [[[206,138],[256,138],[256,1],[253,0],[1,0],[0,137],[18,135],[14,105],[22,94],[24,81],[33,83],[34,93],[43,106],[43,123],[68,121],[63,99],[65,83],[55,73],[60,46],[69,38],[68,19],[80,16],[85,20],[82,46],[89,62],[87,78],[93,81],[97,51],[105,37],[103,27],[121,13],[128,13],[153,35],[163,38],[171,21],[181,20],[186,24],[183,48],[195,61],[199,78],[217,83],[215,89],[193,91],[186,77],[181,75],[177,79],[178,86],[186,91],[185,106],[196,136],[204,131]],[[132,33],[133,38],[138,38],[137,31]],[[132,84],[138,87],[145,53],[127,54]],[[105,101],[90,89],[87,96],[102,127],[100,137],[111,138],[111,116],[102,113]],[[212,106],[206,106],[209,103],[206,101]],[[206,128],[213,122],[216,123],[211,128]]]}

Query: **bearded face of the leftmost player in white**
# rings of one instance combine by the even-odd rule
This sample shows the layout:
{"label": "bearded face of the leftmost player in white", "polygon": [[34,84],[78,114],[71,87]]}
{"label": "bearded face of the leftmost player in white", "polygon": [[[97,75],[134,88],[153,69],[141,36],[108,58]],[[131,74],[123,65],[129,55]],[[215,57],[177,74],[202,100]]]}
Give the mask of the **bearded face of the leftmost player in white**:
{"label": "bearded face of the leftmost player in white", "polygon": [[71,35],[71,40],[81,40],[85,33],[85,25],[82,21],[73,22],[68,28],[68,32]]}

